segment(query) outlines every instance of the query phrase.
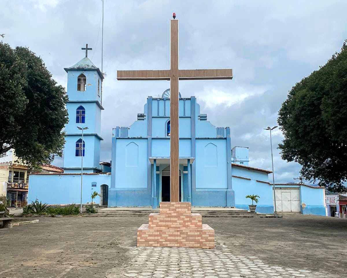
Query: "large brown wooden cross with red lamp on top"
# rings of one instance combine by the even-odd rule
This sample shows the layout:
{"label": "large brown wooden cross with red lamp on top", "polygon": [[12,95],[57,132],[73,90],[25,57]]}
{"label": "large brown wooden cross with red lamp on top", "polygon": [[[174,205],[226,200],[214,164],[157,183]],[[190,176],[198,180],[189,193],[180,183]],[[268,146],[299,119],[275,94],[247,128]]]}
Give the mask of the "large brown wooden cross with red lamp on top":
{"label": "large brown wooden cross with red lamp on top", "polygon": [[[176,15],[174,14],[176,17]],[[174,17],[174,18],[175,18]],[[117,80],[170,81],[170,201],[179,200],[178,80],[232,79],[232,69],[178,69],[178,19],[170,20],[169,70],[117,70]],[[188,165],[189,167],[189,165]],[[155,173],[155,169],[154,169]]]}

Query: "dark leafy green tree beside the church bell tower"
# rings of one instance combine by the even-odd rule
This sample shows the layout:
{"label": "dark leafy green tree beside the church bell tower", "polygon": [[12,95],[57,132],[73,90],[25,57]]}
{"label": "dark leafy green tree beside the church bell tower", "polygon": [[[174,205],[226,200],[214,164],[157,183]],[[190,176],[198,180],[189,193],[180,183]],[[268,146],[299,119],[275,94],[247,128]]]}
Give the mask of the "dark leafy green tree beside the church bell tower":
{"label": "dark leafy green tree beside the church bell tower", "polygon": [[32,166],[61,156],[67,100],[40,57],[0,42],[0,156],[15,149]]}

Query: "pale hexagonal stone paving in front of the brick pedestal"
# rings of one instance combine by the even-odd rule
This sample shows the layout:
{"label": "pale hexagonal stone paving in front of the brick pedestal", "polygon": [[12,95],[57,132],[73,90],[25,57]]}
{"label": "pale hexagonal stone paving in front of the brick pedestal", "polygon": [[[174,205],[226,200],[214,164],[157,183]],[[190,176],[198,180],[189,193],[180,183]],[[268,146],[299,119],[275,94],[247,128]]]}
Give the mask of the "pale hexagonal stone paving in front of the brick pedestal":
{"label": "pale hexagonal stone paving in front of the brick pedestal", "polygon": [[107,278],[328,278],[319,272],[305,269],[269,266],[256,256],[235,256],[224,242],[217,242],[216,248],[196,249],[179,247],[136,247],[135,255],[124,270],[110,273]]}

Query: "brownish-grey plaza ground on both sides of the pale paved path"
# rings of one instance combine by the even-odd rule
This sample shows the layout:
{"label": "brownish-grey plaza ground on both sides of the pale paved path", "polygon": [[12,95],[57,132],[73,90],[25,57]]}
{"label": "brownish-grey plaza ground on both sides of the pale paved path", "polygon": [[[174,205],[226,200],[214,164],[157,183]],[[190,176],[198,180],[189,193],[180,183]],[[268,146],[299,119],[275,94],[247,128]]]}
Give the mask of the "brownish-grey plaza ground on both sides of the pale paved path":
{"label": "brownish-grey plaza ground on both sides of the pale paved path", "polygon": [[[37,224],[0,229],[0,277],[110,277],[132,259],[136,229],[148,217],[40,217]],[[347,220],[203,218],[235,255],[267,264],[347,277]]]}

